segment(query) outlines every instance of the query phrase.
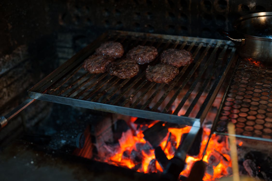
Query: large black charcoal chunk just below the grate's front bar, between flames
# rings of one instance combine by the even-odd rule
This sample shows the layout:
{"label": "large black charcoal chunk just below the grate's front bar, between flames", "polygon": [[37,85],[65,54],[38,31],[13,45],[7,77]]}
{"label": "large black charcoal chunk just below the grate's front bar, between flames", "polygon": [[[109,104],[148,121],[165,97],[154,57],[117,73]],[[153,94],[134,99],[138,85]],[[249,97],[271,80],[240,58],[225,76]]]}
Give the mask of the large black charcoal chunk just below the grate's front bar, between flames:
{"label": "large black charcoal chunk just below the grate's front bar, between flames", "polygon": [[147,140],[153,148],[159,146],[168,133],[168,128],[163,126],[163,124],[164,122],[157,122],[143,132],[144,139]]}

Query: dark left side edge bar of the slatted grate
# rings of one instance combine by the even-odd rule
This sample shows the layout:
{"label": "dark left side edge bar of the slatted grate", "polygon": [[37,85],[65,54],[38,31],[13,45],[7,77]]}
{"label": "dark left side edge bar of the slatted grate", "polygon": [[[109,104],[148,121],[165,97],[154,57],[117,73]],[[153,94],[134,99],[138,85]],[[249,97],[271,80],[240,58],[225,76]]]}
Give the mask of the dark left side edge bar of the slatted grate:
{"label": "dark left side edge bar of the slatted grate", "polygon": [[[29,91],[44,91],[52,84],[54,84],[59,78],[61,78],[69,70],[72,70],[78,63],[80,63],[84,58],[91,54],[91,49],[93,49],[101,40],[105,39],[108,35],[108,32],[103,33],[97,39],[95,39],[91,44],[83,48],[79,53],[75,54],[72,58],[67,60],[37,84],[35,84]],[[65,71],[64,71],[65,70]]]}

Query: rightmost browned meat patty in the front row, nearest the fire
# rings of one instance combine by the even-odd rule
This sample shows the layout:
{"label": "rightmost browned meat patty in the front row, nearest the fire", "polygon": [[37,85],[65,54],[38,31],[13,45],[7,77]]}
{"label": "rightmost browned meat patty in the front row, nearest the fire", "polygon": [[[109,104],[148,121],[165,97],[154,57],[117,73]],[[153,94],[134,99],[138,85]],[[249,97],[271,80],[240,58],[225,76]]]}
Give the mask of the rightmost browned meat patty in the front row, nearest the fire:
{"label": "rightmost browned meat patty in the front row, nearest the fire", "polygon": [[157,64],[147,66],[146,79],[151,82],[168,83],[178,75],[178,68],[172,65]]}

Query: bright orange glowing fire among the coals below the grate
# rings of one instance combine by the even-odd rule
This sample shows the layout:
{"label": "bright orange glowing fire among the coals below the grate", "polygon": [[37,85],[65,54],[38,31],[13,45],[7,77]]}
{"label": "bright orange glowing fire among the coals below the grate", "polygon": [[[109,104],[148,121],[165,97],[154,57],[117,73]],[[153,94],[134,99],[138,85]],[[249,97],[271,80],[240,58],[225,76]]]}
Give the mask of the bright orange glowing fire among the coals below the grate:
{"label": "bright orange glowing fire among the coals below the grate", "polygon": [[[140,125],[140,128],[138,126],[138,129],[136,129],[137,125],[133,123],[136,119],[137,118],[135,117],[131,118],[129,124],[132,129],[122,133],[122,136],[119,139],[120,149],[118,149],[118,152],[116,152],[115,155],[109,156],[109,158],[107,158],[107,162],[144,173],[162,172],[163,169],[159,162],[156,160],[154,149],[144,139],[142,130],[143,126],[152,127],[158,121],[154,121],[149,125]],[[163,126],[165,126],[165,124],[163,124]],[[174,157],[175,149],[177,149],[178,145],[180,144],[182,134],[188,133],[190,128],[191,127],[189,126],[184,128],[168,128],[168,135],[160,143],[160,147],[168,159]],[[187,165],[186,168],[181,172],[181,175],[188,176],[194,162],[202,159],[202,154],[206,143],[208,142],[209,134],[210,130],[208,128],[204,128],[200,153],[196,157],[187,156]],[[242,145],[242,142],[239,142],[238,144]],[[141,151],[136,151],[138,149],[137,145],[149,145],[149,150],[142,149]],[[228,141],[226,138],[222,136],[220,137],[218,135],[213,135],[211,137],[206,154],[203,157],[203,161],[205,161],[208,165],[203,180],[215,180],[223,176],[229,176],[231,174],[231,161],[227,148]],[[131,159],[129,156],[133,154],[136,154],[135,159]],[[215,158],[214,155],[216,156]],[[218,159],[218,161],[214,159]]]}

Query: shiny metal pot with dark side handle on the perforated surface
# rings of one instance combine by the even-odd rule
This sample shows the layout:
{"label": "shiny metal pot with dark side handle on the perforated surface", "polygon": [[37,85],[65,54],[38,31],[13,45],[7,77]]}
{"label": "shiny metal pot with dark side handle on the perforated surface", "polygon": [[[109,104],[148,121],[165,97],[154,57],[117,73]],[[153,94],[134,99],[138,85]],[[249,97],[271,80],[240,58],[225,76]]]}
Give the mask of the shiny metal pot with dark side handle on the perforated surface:
{"label": "shiny metal pot with dark side handle on the perforated surface", "polygon": [[272,12],[253,13],[237,19],[234,32],[220,30],[221,35],[237,45],[242,58],[259,66],[272,65]]}

